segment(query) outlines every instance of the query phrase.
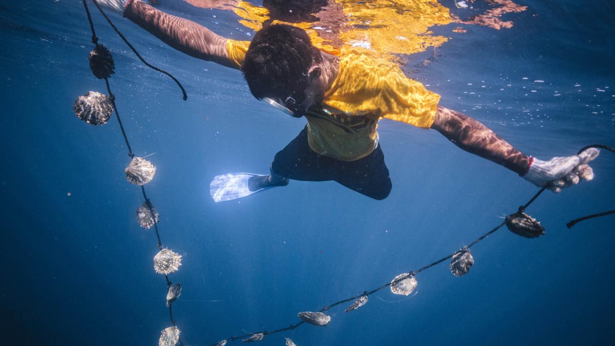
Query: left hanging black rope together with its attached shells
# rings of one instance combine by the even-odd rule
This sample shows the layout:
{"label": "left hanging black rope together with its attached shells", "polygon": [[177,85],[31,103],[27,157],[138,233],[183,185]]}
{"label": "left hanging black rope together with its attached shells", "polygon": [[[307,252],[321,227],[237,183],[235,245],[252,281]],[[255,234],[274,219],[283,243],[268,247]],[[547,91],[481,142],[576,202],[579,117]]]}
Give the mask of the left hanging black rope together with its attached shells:
{"label": "left hanging black rope together with its attached shells", "polygon": [[[141,227],[145,229],[149,229],[152,226],[156,231],[157,238],[157,247],[160,250],[158,254],[154,257],[154,270],[164,275],[165,281],[167,283],[167,293],[166,293],[166,304],[169,307],[169,320],[171,322],[171,326],[165,328],[161,332],[161,336],[159,339],[159,346],[175,346],[177,343],[183,346],[183,342],[180,337],[180,329],[177,327],[175,320],[173,320],[173,302],[180,297],[181,294],[181,285],[180,283],[172,283],[169,280],[169,274],[173,272],[177,272],[181,265],[181,255],[177,254],[170,249],[162,247],[162,241],[160,238],[160,233],[158,230],[158,221],[159,214],[154,209],[153,204],[148,198],[148,195],[145,191],[145,184],[150,182],[154,178],[154,174],[156,174],[156,167],[146,160],[145,158],[137,157],[133,154],[132,148],[130,147],[130,142],[128,140],[128,136],[126,135],[126,131],[124,129],[124,125],[122,124],[122,119],[119,116],[119,111],[117,110],[117,105],[115,103],[115,96],[113,92],[111,92],[111,86],[109,85],[109,78],[111,74],[114,74],[115,64],[113,62],[113,56],[111,52],[98,43],[98,37],[96,36],[96,31],[94,29],[94,24],[92,21],[92,16],[90,15],[90,10],[87,7],[87,0],[82,0],[83,6],[85,9],[85,13],[87,14],[87,19],[90,23],[90,29],[92,30],[92,43],[95,45],[92,52],[90,52],[89,61],[90,61],[90,69],[92,70],[92,74],[98,79],[105,79],[105,85],[108,92],[107,95],[100,94],[98,92],[87,92],[87,94],[79,96],[74,103],[74,111],[80,119],[85,121],[86,123],[92,125],[104,125],[109,120],[111,113],[114,111],[117,119],[117,123],[122,131],[122,136],[124,137],[124,142],[126,144],[126,148],[128,149],[128,155],[130,156],[131,161],[130,164],[125,169],[126,179],[133,183],[134,185],[138,185],[141,187],[141,193],[145,202],[141,204],[140,207],[137,208],[137,221],[140,223]],[[137,57],[141,59],[143,63],[147,66],[153,68],[154,70],[160,71],[162,73],[170,76],[175,82],[177,82],[178,86],[180,86],[181,91],[184,95],[184,100],[186,100],[186,91],[181,86],[180,82],[177,81],[173,76],[169,73],[160,70],[154,66],[149,65],[149,63],[145,62],[145,60],[138,54],[137,50],[130,45],[130,43],[124,38],[122,33],[117,30],[116,26],[111,23],[109,17],[106,16],[105,12],[98,6],[98,3],[95,0],[92,0],[94,4],[98,7],[101,14],[106,18],[106,20],[113,26],[113,29],[117,34],[126,42],[126,44],[130,47],[130,49],[137,54]]]}

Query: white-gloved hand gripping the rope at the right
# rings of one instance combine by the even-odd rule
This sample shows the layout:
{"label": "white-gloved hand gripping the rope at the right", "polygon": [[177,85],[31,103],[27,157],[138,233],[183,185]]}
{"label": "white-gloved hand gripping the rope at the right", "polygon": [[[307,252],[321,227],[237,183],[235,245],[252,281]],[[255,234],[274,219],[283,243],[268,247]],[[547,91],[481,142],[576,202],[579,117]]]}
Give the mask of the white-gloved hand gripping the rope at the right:
{"label": "white-gloved hand gripping the rope at the right", "polygon": [[579,155],[565,158],[552,158],[549,161],[534,159],[523,178],[538,187],[560,192],[562,188],[576,185],[581,180],[592,180],[592,167],[587,163],[597,158],[598,154],[600,150],[589,148]]}

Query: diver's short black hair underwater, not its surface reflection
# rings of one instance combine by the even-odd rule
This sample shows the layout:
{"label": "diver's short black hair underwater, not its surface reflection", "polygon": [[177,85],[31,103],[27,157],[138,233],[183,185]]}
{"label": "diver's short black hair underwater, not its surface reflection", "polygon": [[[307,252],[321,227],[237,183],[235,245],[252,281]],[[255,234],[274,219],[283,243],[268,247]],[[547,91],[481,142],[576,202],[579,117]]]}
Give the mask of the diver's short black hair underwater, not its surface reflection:
{"label": "diver's short black hair underwater, not its surface reflection", "polygon": [[258,31],[242,65],[256,99],[288,96],[306,87],[312,64],[322,61],[308,34],[295,26],[276,24]]}

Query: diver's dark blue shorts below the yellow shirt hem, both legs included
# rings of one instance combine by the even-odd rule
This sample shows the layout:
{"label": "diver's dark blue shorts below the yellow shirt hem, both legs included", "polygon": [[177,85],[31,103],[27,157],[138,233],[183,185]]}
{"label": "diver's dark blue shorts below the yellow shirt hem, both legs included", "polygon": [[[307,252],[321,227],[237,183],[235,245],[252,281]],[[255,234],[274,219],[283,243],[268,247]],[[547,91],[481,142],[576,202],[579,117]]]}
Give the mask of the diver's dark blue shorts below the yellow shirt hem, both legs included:
{"label": "diver's dark blue shorts below the yellow shirt hem, both legs included", "polygon": [[335,180],[362,195],[384,199],[391,193],[391,177],[380,145],[356,161],[341,161],[319,155],[309,147],[308,130],[303,129],[279,151],[271,164],[275,174],[308,182]]}

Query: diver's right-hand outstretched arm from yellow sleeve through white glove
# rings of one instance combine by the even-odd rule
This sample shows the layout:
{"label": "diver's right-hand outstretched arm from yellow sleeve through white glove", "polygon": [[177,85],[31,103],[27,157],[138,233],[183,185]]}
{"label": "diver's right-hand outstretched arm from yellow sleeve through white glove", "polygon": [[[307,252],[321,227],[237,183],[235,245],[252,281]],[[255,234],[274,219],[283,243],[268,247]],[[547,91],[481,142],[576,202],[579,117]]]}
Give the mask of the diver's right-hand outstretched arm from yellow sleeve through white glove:
{"label": "diver's right-hand outstretched arm from yellow sleeve through white glove", "polygon": [[590,148],[579,155],[542,161],[523,154],[491,129],[458,111],[438,106],[432,129],[440,132],[459,148],[501,164],[538,187],[555,192],[592,180],[593,171],[587,164],[599,151]]}

